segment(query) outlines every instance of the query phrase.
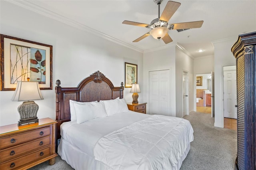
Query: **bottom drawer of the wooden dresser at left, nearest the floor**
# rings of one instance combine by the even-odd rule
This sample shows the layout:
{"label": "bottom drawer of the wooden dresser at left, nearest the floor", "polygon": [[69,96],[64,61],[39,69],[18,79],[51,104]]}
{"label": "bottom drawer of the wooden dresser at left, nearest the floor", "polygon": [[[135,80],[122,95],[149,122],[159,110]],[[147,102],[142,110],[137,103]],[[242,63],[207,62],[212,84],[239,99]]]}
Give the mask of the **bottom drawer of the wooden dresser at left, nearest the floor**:
{"label": "bottom drawer of the wooden dresser at left, nearest the floor", "polygon": [[1,170],[14,170],[20,166],[50,156],[50,146],[0,164]]}

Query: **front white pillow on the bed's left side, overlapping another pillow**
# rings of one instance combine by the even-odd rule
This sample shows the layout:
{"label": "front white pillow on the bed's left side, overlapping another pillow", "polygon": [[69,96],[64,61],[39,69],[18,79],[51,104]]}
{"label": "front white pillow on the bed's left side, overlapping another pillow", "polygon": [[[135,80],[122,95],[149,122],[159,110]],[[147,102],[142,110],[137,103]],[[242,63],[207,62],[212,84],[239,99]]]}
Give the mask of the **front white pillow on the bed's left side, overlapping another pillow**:
{"label": "front white pillow on the bed's left side, overlapping another pillow", "polygon": [[103,102],[86,102],[82,105],[74,103],[76,111],[76,123],[80,124],[98,117],[106,117],[106,110]]}

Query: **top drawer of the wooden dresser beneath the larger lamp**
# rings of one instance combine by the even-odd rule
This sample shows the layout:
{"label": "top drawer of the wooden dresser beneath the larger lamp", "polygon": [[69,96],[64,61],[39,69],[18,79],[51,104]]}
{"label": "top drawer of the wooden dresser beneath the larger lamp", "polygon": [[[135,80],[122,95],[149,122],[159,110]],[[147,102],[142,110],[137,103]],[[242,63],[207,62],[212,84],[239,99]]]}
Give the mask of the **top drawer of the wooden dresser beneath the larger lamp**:
{"label": "top drawer of the wooden dresser beneath the larger lamp", "polygon": [[12,136],[7,136],[0,138],[0,149],[16,146],[24,142],[42,138],[45,136],[50,136],[50,127],[39,128],[36,130],[31,130],[29,132],[24,132],[20,134],[14,134]]}

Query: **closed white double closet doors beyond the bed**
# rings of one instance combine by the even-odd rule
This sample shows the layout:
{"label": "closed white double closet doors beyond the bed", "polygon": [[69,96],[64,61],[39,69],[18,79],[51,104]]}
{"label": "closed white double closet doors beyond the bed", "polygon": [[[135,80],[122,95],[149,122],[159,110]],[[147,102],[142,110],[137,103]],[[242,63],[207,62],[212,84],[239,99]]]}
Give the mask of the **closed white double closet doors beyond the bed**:
{"label": "closed white double closet doors beyond the bed", "polygon": [[170,115],[169,70],[149,72],[149,114]]}

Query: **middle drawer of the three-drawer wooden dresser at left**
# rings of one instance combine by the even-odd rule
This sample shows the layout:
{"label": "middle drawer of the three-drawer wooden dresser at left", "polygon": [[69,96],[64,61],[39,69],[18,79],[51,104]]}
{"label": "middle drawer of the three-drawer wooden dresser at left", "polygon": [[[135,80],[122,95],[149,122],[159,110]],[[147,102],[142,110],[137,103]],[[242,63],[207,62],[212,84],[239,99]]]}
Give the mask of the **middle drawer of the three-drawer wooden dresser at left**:
{"label": "middle drawer of the three-drawer wooden dresser at left", "polygon": [[0,162],[5,162],[26,153],[33,152],[50,145],[50,136],[20,144],[0,151]]}

